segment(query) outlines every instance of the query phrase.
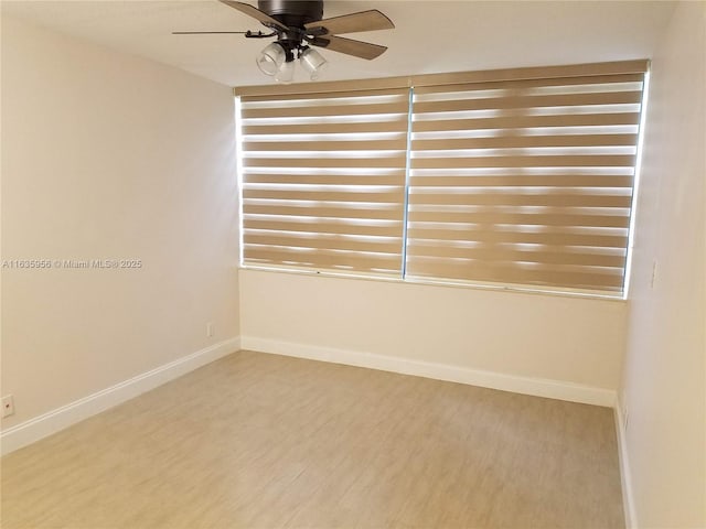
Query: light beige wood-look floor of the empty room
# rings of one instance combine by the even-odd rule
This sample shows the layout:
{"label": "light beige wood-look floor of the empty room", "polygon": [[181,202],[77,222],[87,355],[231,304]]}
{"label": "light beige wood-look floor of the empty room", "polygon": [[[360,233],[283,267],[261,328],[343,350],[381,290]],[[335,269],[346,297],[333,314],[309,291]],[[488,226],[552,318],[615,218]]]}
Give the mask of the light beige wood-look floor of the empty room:
{"label": "light beige wood-look floor of the empty room", "polygon": [[1,464],[3,529],[623,527],[609,409],[248,352]]}

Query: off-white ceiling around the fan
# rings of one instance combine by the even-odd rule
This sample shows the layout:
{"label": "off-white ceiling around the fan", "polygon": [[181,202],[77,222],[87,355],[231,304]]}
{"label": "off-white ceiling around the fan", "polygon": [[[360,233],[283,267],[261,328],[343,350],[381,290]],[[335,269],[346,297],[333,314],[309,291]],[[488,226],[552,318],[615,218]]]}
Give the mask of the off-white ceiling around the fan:
{"label": "off-white ceiling around the fan", "polygon": [[[366,9],[396,28],[346,36],[389,50],[370,62],[323,51],[322,80],[650,58],[674,2],[325,0],[324,18]],[[264,30],[216,0],[2,1],[2,14],[229,86],[271,82],[255,65],[269,40],[171,34]]]}

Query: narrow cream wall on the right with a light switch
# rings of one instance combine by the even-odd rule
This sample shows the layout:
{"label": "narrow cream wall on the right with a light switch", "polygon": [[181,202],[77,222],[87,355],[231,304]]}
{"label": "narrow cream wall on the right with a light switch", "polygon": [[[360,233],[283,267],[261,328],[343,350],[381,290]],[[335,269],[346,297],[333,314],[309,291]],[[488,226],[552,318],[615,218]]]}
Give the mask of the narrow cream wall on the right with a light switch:
{"label": "narrow cream wall on the right with a light switch", "polygon": [[622,402],[641,528],[706,527],[705,32],[680,3],[652,64]]}

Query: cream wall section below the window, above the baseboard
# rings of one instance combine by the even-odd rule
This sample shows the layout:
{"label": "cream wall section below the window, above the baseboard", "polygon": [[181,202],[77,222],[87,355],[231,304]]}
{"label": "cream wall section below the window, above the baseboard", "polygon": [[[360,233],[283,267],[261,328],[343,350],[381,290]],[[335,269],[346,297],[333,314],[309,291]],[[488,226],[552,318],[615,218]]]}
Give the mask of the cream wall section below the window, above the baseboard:
{"label": "cream wall section below the window, above the baseboard", "polygon": [[250,337],[616,390],[618,300],[240,270]]}

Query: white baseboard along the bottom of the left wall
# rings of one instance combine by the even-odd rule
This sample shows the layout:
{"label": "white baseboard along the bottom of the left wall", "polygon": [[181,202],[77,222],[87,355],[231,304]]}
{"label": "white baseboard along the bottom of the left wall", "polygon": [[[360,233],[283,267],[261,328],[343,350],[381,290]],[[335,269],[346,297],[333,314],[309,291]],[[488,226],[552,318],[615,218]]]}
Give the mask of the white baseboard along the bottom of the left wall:
{"label": "white baseboard along the bottom of the left wall", "polygon": [[150,371],[116,384],[101,391],[17,424],[0,433],[0,453],[9,454],[22,446],[64,430],[96,413],[132,399],[150,389],[205,366],[240,348],[240,338],[229,338]]}

